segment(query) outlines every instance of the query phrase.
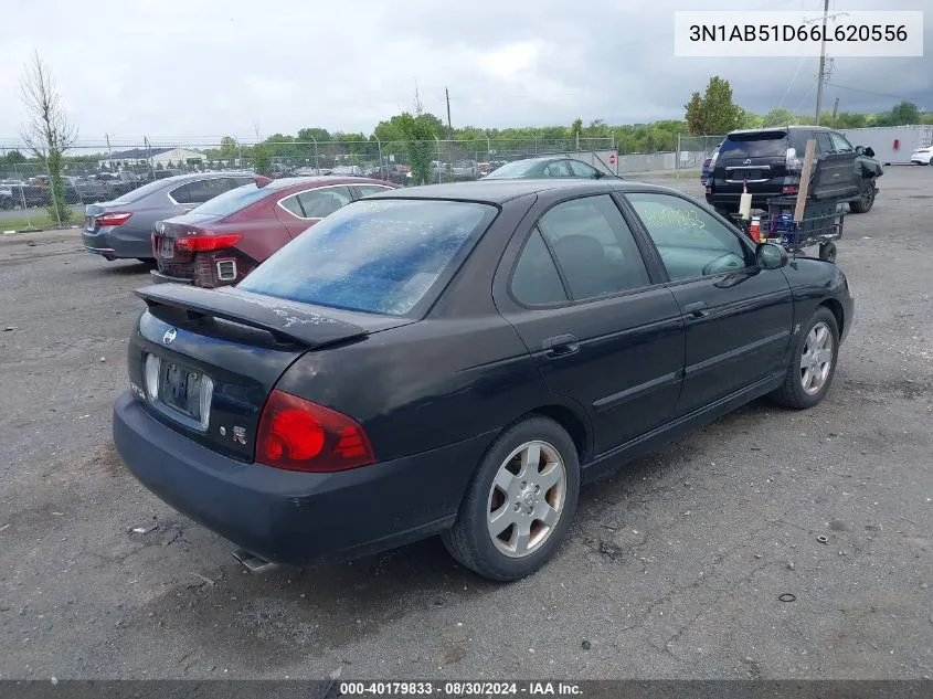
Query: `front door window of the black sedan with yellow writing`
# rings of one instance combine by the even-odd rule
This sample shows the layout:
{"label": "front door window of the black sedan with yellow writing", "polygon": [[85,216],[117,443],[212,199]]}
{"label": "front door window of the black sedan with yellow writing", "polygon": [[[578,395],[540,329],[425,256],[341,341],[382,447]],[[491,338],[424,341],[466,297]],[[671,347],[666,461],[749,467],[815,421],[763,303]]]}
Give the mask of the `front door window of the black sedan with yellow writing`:
{"label": "front door window of the black sedan with yellow writing", "polygon": [[743,269],[739,236],[697,204],[654,192],[626,194],[660,253],[671,280]]}

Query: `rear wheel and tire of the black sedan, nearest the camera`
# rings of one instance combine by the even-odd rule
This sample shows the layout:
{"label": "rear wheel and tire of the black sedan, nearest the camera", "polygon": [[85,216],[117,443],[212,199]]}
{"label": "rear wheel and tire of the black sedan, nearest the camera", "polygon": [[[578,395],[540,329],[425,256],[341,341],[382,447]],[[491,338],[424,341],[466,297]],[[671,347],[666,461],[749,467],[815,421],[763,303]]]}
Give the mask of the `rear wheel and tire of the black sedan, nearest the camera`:
{"label": "rear wheel and tire of the black sedan, nearest the camera", "polygon": [[[558,550],[573,522],[579,494],[573,439],[553,420],[528,417],[486,452],[454,526],[442,534],[444,546],[484,578],[519,580]],[[553,519],[547,523],[539,518]]]}

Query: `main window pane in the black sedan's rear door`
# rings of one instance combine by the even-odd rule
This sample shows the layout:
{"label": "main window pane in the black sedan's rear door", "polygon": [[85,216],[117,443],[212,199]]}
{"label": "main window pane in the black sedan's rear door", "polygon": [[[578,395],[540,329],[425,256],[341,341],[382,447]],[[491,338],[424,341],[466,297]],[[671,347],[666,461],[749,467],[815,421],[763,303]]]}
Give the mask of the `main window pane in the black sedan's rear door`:
{"label": "main window pane in the black sedan's rear door", "polygon": [[574,300],[650,284],[632,231],[608,194],[560,203],[541,216],[538,227]]}

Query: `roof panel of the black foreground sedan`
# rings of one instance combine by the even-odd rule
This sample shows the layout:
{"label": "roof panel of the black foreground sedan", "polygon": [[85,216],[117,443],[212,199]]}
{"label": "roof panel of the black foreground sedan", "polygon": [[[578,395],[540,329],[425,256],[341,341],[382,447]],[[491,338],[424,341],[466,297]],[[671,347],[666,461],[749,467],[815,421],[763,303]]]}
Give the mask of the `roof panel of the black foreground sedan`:
{"label": "roof panel of the black foreground sedan", "polygon": [[571,194],[598,194],[608,192],[681,192],[668,187],[634,182],[632,180],[604,179],[515,179],[515,180],[476,180],[470,182],[449,182],[446,184],[424,184],[386,190],[371,198],[374,199],[446,199],[455,201],[476,201],[488,204],[502,204],[527,194],[542,192],[566,192]]}

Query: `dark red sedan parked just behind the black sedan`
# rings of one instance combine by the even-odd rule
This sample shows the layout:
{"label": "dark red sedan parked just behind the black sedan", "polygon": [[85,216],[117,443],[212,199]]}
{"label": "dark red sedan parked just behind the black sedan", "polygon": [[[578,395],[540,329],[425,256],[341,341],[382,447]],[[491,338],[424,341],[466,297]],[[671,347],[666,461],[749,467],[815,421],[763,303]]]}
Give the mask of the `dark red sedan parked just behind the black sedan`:
{"label": "dark red sedan parked just behind the black sedan", "polygon": [[363,178],[257,178],[156,224],[156,282],[235,284],[288,241],[356,199],[394,184]]}

